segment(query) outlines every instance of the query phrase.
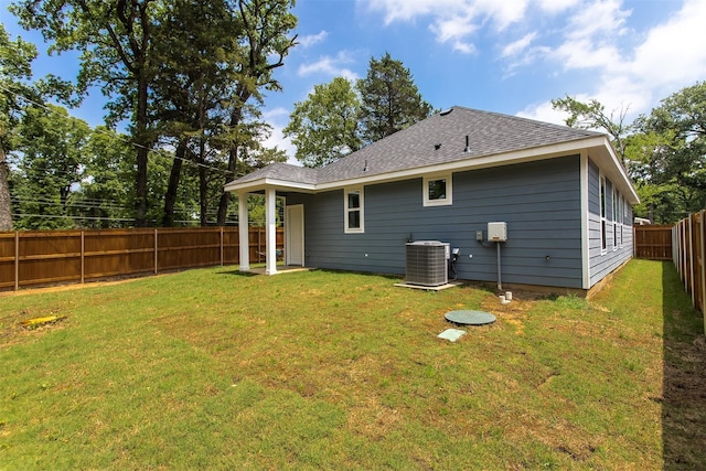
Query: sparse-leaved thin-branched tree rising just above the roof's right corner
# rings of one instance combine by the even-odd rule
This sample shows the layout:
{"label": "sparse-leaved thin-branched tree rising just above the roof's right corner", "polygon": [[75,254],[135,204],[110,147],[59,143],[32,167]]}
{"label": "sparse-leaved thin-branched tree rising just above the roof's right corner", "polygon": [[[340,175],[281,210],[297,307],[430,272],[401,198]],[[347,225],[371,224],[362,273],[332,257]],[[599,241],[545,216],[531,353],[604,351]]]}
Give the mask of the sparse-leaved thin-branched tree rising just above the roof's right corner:
{"label": "sparse-leaved thin-branched tree rising just above the roof's right corner", "polygon": [[597,99],[591,98],[584,103],[568,95],[553,99],[552,107],[569,114],[565,122],[570,128],[602,129],[608,132],[620,160],[625,163],[625,137],[631,131],[631,126],[625,122],[629,108],[612,110],[607,115],[606,107]]}

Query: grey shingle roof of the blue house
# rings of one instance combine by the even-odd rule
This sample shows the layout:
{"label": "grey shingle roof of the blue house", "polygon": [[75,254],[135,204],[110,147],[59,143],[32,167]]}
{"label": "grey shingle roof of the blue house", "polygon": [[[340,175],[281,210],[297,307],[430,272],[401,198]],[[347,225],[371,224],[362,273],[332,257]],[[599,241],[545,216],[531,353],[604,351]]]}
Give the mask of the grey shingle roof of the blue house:
{"label": "grey shingle roof of the blue house", "polygon": [[[466,150],[468,136],[469,149]],[[232,184],[260,179],[321,184],[603,136],[456,106],[320,169],[275,163]]]}

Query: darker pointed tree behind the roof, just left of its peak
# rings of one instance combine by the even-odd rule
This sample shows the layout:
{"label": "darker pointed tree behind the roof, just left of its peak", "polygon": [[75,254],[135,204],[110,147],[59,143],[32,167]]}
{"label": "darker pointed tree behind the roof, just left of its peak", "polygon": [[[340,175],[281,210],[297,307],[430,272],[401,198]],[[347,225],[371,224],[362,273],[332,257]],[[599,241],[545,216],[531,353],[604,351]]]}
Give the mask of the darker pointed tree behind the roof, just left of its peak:
{"label": "darker pointed tree behind the roof, just left of its peak", "polygon": [[361,94],[361,126],[365,142],[374,142],[431,115],[431,105],[421,99],[411,74],[402,62],[385,53],[371,57],[367,76],[357,82]]}

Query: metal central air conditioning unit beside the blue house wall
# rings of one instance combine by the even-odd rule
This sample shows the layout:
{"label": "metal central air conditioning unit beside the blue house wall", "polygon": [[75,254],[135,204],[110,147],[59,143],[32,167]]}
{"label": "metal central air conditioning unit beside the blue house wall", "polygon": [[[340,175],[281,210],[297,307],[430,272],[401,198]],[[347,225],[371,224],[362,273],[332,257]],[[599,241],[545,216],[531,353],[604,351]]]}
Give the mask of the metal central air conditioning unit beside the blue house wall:
{"label": "metal central air conditioning unit beside the blue house wall", "polygon": [[446,285],[449,282],[448,257],[449,244],[439,240],[408,243],[405,281],[429,287]]}

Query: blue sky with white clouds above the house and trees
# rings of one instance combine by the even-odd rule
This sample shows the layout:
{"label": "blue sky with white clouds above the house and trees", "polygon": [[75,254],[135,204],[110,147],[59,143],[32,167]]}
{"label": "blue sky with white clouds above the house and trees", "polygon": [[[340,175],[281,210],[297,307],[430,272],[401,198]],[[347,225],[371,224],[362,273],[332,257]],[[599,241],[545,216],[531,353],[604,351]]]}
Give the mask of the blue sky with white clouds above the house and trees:
{"label": "blue sky with white clouds above the house and trees", "polygon": [[[11,34],[41,36],[14,24]],[[277,69],[281,93],[266,97],[275,131],[268,144],[286,149],[281,128],[297,101],[335,76],[365,76],[371,57],[389,52],[409,68],[436,108],[471,108],[561,122],[549,100],[566,94],[596,98],[629,119],[662,98],[706,79],[706,0],[299,0],[300,44]],[[75,56],[42,57],[35,76],[75,74]],[[73,114],[101,122],[95,93]]]}

